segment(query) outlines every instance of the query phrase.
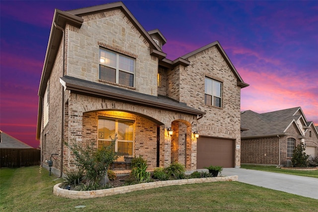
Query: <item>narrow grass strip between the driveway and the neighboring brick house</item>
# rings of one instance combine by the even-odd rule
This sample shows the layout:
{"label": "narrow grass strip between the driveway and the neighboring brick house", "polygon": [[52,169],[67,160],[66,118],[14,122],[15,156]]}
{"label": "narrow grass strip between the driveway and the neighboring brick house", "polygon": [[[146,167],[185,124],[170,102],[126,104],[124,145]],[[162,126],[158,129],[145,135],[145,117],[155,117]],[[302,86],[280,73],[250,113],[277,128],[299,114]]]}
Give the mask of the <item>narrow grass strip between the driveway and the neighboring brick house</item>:
{"label": "narrow grass strip between the driveway and the neighboring brick house", "polygon": [[264,165],[262,166],[262,165],[249,165],[249,164],[248,165],[241,164],[240,168],[318,178],[318,170],[315,170],[315,171],[288,170],[288,169],[279,169],[279,168],[276,168],[276,166],[264,166]]}

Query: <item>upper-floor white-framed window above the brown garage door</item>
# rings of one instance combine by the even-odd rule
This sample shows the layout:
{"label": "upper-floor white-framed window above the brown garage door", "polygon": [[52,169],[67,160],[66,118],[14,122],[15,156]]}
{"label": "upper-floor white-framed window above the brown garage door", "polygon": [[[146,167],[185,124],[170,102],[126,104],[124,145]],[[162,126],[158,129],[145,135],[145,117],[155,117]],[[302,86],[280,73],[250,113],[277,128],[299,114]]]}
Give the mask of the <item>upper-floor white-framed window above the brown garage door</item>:
{"label": "upper-floor white-framed window above the brown garage door", "polygon": [[204,102],[208,106],[221,107],[222,83],[205,78],[205,98]]}

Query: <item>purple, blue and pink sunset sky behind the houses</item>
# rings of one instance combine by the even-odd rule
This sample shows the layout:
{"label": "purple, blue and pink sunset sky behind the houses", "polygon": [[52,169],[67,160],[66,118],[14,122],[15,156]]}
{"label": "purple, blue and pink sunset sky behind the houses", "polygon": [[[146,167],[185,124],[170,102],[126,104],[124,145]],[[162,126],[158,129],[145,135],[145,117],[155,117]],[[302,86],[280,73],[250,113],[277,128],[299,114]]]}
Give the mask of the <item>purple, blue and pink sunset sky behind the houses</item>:
{"label": "purple, blue and pink sunset sky behind the houses", "polygon": [[[33,146],[54,9],[112,1],[0,1],[0,130]],[[301,106],[318,125],[318,1],[123,1],[174,60],[218,40],[245,83],[241,110]]]}

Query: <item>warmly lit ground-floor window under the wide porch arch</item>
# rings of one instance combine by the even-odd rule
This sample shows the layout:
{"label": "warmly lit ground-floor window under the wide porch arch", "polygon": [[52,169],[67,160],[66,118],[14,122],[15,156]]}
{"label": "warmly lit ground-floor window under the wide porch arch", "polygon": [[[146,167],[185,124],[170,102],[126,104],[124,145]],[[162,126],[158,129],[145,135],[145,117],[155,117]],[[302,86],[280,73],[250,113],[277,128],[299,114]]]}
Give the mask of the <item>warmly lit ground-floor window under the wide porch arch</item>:
{"label": "warmly lit ground-floor window under the wide porch arch", "polygon": [[110,145],[111,138],[117,140],[115,152],[133,156],[134,121],[122,119],[98,119],[98,149]]}

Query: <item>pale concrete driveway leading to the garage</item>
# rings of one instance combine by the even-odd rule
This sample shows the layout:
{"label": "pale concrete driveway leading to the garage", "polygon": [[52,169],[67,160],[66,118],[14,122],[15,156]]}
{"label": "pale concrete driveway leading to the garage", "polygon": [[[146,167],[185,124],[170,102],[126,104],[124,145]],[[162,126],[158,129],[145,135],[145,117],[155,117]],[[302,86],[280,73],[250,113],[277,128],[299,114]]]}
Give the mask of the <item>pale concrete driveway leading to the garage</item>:
{"label": "pale concrete driveway leading to the garage", "polygon": [[241,168],[224,168],[222,175],[238,175],[242,183],[318,199],[318,178]]}

